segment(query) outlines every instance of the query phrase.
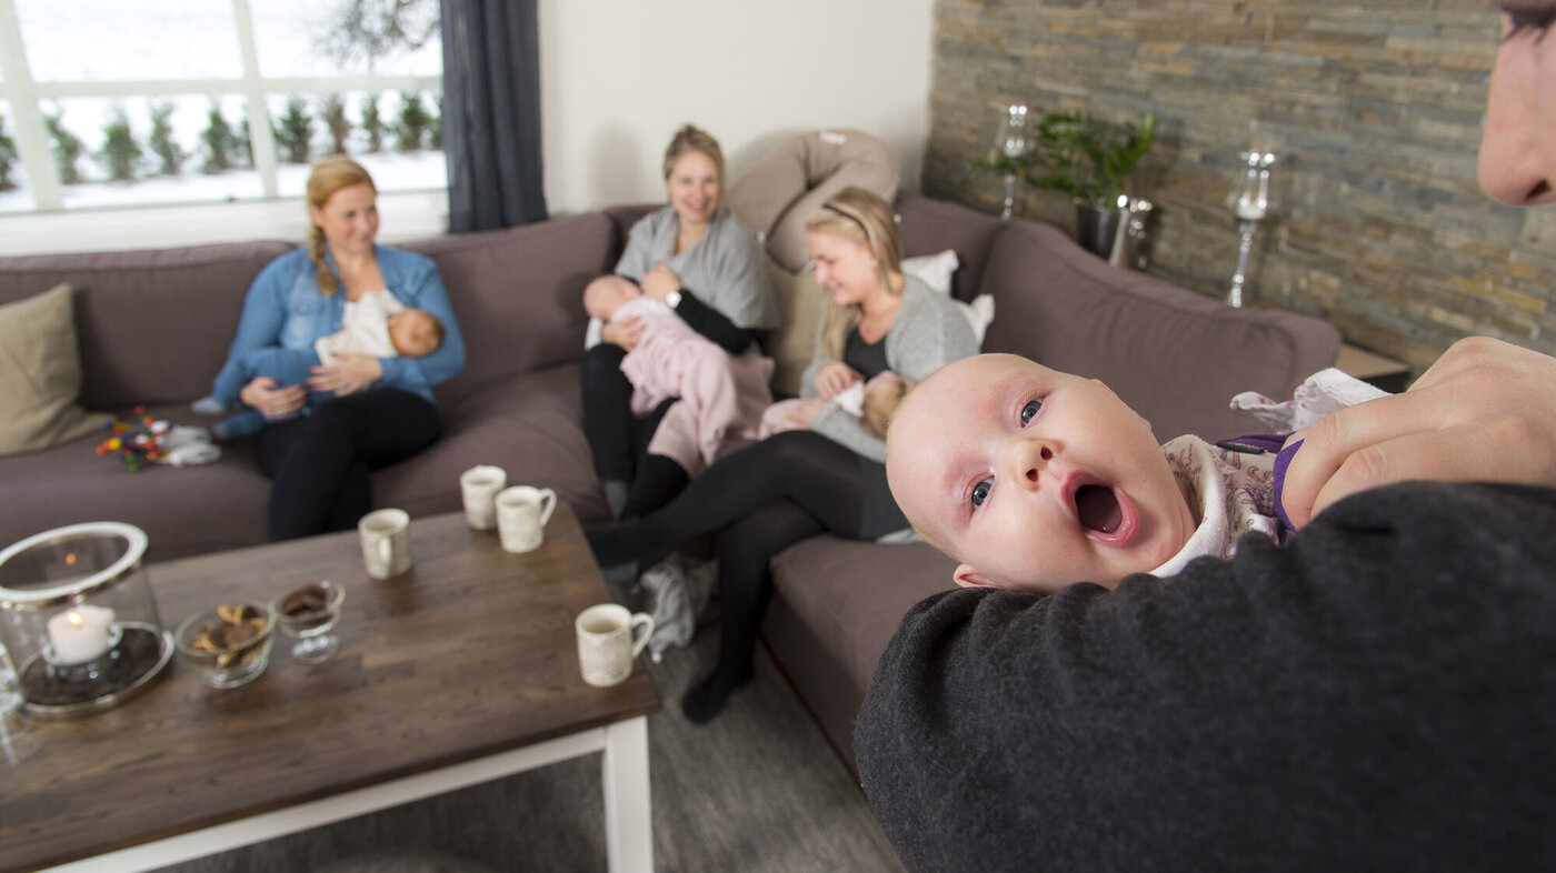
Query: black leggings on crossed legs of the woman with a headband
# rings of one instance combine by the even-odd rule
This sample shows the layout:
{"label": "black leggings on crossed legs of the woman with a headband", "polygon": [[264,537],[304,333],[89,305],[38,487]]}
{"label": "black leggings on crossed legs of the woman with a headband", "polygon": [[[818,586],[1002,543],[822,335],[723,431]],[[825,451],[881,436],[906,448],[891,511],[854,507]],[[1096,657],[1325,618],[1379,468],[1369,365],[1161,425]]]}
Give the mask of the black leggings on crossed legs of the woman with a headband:
{"label": "black leggings on crossed legs of the woman with a headband", "polygon": [[588,532],[602,566],[652,562],[719,531],[719,669],[747,669],[772,598],[769,560],[822,532],[857,538],[859,456],[812,431],[775,434],[720,459],[658,512]]}

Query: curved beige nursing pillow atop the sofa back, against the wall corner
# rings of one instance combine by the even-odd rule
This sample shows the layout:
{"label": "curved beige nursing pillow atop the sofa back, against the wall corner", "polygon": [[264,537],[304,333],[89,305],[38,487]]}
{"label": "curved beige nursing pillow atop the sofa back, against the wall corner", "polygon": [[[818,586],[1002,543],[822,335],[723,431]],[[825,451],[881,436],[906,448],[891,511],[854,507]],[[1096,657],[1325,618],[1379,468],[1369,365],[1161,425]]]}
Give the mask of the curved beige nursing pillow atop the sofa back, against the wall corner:
{"label": "curved beige nursing pillow atop the sofa back, against the wall corner", "polygon": [[811,260],[804,223],[828,198],[859,185],[892,202],[896,184],[896,157],[881,140],[864,131],[811,131],[759,157],[725,199],[780,266],[800,272]]}

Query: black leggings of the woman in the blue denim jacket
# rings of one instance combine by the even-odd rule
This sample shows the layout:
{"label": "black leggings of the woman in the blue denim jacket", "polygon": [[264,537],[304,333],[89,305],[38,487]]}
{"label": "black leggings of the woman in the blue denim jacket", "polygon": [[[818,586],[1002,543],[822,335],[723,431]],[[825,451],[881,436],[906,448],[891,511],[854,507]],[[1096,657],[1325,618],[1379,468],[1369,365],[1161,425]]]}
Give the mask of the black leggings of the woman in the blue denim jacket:
{"label": "black leggings of the woman in the blue denim jacket", "polygon": [[437,442],[437,406],[378,387],[336,397],[260,431],[271,542],[349,531],[372,506],[367,473]]}

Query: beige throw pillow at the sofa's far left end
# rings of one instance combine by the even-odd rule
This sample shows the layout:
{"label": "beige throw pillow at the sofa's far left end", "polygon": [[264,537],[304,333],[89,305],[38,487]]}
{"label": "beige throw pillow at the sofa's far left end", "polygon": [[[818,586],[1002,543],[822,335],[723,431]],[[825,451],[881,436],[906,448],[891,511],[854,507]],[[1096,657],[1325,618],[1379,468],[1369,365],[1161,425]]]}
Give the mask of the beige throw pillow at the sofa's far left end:
{"label": "beige throw pillow at the sofa's far left end", "polygon": [[0,456],[40,451],[101,429],[81,409],[70,286],[0,307]]}

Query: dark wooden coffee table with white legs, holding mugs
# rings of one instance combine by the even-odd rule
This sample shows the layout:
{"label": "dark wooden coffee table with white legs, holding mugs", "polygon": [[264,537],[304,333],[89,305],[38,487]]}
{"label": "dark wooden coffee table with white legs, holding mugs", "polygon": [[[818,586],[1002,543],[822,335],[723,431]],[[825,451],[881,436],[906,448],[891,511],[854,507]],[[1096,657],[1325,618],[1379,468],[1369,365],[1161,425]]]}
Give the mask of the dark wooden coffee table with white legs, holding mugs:
{"label": "dark wooden coffee table with white legs, holding mugs", "polygon": [[566,504],[509,554],[462,514],[411,523],[415,566],[363,570],[356,532],[156,563],[165,627],[300,584],[345,587],[341,654],[307,668],[275,638],[249,685],[207,688],[174,658],[120,706],[34,720],[37,753],[0,770],[0,870],[148,870],[604,752],[612,870],[652,870],[641,666],[579,675],[573,618],[608,602]]}

